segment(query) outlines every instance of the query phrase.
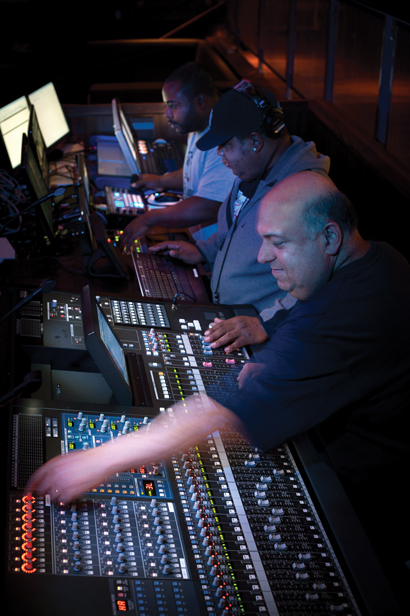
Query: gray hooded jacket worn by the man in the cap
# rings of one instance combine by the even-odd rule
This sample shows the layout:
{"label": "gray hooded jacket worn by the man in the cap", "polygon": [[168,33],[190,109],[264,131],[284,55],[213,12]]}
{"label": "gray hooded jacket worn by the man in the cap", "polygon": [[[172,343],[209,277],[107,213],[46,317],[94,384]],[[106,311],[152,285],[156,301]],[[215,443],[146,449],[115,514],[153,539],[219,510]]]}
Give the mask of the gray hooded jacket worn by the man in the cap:
{"label": "gray hooded jacket worn by the man in the cap", "polygon": [[[220,304],[252,304],[261,312],[273,305],[286,291],[279,289],[269,263],[258,263],[261,238],[256,232],[259,203],[274,184],[299,171],[315,171],[327,175],[328,156],[318,154],[313,141],[305,143],[292,136],[292,145],[261,180],[254,196],[242,208],[236,224],[228,227],[228,207],[231,215],[241,182],[235,180],[229,196],[218,213],[218,230],[206,240],[197,242],[210,270],[213,301]],[[233,215],[231,216],[233,219]],[[218,298],[219,295],[219,298]]]}

